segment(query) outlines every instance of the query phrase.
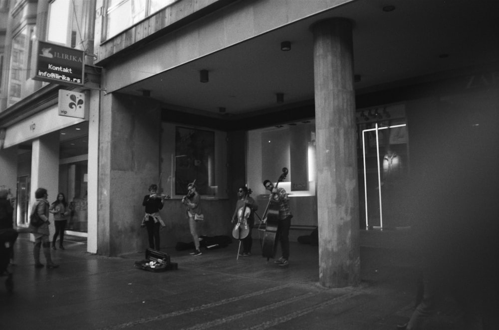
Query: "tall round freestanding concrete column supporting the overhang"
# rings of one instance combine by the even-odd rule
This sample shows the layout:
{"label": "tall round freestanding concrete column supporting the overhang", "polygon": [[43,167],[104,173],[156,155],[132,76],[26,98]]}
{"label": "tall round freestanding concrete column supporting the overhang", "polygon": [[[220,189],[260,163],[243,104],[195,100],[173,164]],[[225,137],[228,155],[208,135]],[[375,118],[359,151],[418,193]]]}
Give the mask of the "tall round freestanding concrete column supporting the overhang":
{"label": "tall round freestanding concrete column supporting the overhang", "polygon": [[319,281],[341,288],[360,281],[352,22],[319,21],[312,32]]}

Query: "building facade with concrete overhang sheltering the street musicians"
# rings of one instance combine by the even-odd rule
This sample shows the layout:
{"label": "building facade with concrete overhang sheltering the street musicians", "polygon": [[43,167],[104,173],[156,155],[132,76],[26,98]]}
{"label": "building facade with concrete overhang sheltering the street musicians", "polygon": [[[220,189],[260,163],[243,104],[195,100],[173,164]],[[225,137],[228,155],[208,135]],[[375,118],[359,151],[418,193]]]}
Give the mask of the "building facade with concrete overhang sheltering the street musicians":
{"label": "building facade with concrete overhang sheltering the street musicians", "polygon": [[[359,230],[413,226],[411,181],[443,155],[460,165],[459,189],[497,197],[493,1],[73,2],[9,1],[0,183],[16,187],[21,215],[22,187],[31,201],[45,186],[80,203],[89,252],[145,248],[141,201],[153,183],[172,197],[163,245],[191,240],[180,200],[194,180],[201,234],[230,235],[238,188],[264,210],[263,180],[286,168],[290,236],[318,226],[321,284],[341,287],[359,281]],[[63,35],[50,25],[59,12],[74,12]],[[30,53],[28,39],[84,51],[83,86],[23,78],[14,88],[16,65],[33,68],[15,48]],[[88,96],[84,118],[54,121],[59,89]],[[22,133],[33,123],[44,129]],[[85,150],[65,154],[67,128],[86,131],[76,137]]]}

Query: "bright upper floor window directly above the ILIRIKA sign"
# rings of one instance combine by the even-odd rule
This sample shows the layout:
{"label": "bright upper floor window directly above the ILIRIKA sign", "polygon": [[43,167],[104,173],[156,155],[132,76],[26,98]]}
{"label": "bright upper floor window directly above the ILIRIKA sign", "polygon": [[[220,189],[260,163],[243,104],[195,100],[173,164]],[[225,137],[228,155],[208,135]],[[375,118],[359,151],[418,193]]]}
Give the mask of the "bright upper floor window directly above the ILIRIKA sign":
{"label": "bright upper floor window directly above the ILIRIKA sign", "polygon": [[81,43],[82,1],[54,0],[48,11],[47,41],[75,48]]}

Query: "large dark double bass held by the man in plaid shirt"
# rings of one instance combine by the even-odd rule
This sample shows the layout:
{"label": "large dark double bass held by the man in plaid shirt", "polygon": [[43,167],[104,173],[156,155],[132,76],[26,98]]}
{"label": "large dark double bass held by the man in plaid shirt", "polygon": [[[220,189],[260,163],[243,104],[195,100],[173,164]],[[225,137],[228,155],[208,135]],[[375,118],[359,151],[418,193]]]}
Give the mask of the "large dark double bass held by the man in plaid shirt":
{"label": "large dark double bass held by the man in plaid shirt", "polygon": [[[284,181],[288,173],[287,168],[282,168],[282,174],[277,179],[275,184],[275,189],[279,185],[279,182]],[[263,212],[263,222],[265,223],[265,233],[263,234],[263,242],[261,245],[261,255],[268,259],[275,257],[275,251],[277,249],[277,241],[275,236],[277,233],[277,225],[279,223],[279,202],[273,199],[275,193],[270,192],[270,199],[268,200],[265,212]]]}

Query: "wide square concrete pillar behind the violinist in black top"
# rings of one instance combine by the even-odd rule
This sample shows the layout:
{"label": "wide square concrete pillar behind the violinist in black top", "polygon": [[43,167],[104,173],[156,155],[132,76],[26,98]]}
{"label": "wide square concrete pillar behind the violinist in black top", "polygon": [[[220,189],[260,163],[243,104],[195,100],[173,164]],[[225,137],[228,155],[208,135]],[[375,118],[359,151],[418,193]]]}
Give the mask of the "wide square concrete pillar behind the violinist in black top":
{"label": "wide square concrete pillar behind the violinist in black top", "polygon": [[161,108],[146,98],[106,95],[101,109],[97,253],[116,256],[148,246],[140,222],[144,195],[160,175]]}

